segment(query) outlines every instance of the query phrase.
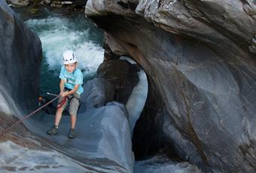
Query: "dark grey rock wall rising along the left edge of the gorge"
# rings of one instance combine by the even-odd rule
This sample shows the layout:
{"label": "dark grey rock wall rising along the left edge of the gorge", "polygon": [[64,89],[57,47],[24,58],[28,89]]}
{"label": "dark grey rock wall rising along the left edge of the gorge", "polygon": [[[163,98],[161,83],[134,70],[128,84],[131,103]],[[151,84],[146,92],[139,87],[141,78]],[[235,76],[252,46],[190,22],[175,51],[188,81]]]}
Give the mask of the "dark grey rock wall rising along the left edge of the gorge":
{"label": "dark grey rock wall rising along the left edge of the gorge", "polygon": [[14,114],[35,108],[41,41],[0,1],[0,111]]}

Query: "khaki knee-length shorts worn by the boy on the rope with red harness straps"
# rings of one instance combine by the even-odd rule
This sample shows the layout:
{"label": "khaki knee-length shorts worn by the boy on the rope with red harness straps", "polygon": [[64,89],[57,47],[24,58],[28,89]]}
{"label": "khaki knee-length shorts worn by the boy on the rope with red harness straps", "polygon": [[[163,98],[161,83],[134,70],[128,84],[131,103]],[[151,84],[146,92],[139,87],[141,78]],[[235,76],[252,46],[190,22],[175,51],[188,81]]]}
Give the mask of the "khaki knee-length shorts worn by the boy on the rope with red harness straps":
{"label": "khaki knee-length shorts worn by the boy on the rope with red harness straps", "polygon": [[[66,90],[64,90],[65,92]],[[64,97],[59,97],[59,102],[62,102],[64,99]],[[67,96],[66,102],[62,105],[61,108],[63,108],[63,110],[66,109],[67,105],[69,105],[69,114],[76,116],[78,113],[78,107],[79,107],[79,99],[80,96],[78,93],[74,93],[72,95]]]}

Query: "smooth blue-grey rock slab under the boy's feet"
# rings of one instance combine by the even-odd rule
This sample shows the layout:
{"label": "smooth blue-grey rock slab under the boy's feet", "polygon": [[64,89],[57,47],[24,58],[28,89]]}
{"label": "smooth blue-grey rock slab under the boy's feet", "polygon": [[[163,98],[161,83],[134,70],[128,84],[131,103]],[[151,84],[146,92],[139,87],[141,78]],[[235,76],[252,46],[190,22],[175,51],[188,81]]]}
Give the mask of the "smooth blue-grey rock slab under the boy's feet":
{"label": "smooth blue-grey rock slab under the boy's feet", "polygon": [[41,120],[28,120],[25,125],[41,138],[47,138],[56,150],[93,172],[133,172],[132,141],[124,105],[109,102],[77,116],[77,137],[74,139],[67,136],[69,116],[62,116],[59,133],[54,136],[46,133],[53,126],[53,115],[44,114]]}

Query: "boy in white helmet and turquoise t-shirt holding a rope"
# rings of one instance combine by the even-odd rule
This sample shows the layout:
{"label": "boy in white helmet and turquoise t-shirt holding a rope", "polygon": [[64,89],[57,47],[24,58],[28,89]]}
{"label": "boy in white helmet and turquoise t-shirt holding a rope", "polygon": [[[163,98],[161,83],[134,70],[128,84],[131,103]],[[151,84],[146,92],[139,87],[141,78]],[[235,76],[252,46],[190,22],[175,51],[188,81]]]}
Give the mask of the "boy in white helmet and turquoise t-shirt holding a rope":
{"label": "boy in white helmet and turquoise t-shirt holding a rope", "polygon": [[61,96],[56,110],[54,126],[47,131],[48,135],[56,135],[59,132],[59,121],[62,117],[62,111],[68,105],[69,100],[69,114],[71,120],[71,128],[69,129],[69,138],[75,138],[75,123],[77,120],[77,112],[79,106],[79,99],[83,93],[83,74],[77,67],[78,59],[72,50],[67,50],[62,55],[63,66],[61,68],[59,78],[59,89]]}

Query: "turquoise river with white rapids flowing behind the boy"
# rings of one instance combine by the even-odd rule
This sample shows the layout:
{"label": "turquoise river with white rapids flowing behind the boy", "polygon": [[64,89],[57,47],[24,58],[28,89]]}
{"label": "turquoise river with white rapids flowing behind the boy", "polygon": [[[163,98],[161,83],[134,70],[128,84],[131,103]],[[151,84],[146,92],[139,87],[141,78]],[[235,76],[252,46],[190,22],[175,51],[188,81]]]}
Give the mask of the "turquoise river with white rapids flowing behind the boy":
{"label": "turquoise river with white rapids flowing behind the boy", "polygon": [[26,20],[27,26],[41,40],[43,60],[41,63],[40,94],[59,93],[59,71],[62,53],[74,50],[78,68],[84,73],[84,82],[95,77],[96,69],[103,60],[102,30],[84,14],[58,16],[50,12],[40,19]]}

